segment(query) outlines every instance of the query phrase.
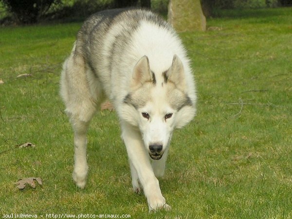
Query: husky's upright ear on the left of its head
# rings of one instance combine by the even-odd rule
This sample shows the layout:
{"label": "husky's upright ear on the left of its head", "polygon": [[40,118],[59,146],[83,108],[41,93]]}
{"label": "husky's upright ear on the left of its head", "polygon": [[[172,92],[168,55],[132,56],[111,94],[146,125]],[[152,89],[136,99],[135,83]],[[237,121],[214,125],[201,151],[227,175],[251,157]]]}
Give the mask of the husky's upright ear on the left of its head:
{"label": "husky's upright ear on the left of its head", "polygon": [[139,88],[147,81],[153,81],[153,76],[150,71],[149,60],[146,55],[144,55],[134,67],[133,78],[131,81],[131,88]]}

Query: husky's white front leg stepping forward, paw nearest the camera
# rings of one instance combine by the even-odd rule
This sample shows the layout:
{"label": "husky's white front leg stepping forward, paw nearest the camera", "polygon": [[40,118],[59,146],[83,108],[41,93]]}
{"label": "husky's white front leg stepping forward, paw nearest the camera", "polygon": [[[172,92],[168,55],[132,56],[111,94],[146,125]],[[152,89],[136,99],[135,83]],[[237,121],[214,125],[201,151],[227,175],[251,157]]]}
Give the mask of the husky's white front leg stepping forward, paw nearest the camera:
{"label": "husky's white front leg stepping forward, paw nearest the camera", "polygon": [[[136,171],[132,172],[131,175],[138,176],[148,202],[149,211],[162,208],[169,210],[170,206],[166,204],[161,193],[159,182],[154,175],[139,130],[136,130],[126,122],[122,123],[122,138],[126,144],[129,162],[132,164],[131,171]],[[134,185],[136,185],[135,182],[133,183]],[[137,187],[134,189],[137,189]]]}

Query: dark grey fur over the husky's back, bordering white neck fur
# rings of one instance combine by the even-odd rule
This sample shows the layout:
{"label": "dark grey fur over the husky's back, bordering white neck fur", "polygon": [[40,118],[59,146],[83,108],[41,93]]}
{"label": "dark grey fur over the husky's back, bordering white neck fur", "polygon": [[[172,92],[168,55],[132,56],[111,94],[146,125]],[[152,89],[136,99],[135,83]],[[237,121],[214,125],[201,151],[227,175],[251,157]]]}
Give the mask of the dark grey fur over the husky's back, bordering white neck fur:
{"label": "dark grey fur over the husky's back, bordering white neck fur", "polygon": [[[139,27],[142,20],[155,23],[167,29],[169,32],[173,32],[173,29],[163,18],[148,10],[112,9],[101,11],[91,15],[82,25],[77,34],[75,53],[79,53],[84,57],[91,71],[97,77],[100,68],[93,63],[102,64],[104,60],[109,60],[107,66],[102,66],[102,71],[110,73],[112,61],[122,61],[119,60],[120,54],[125,51],[127,46],[130,46],[131,36],[135,33],[135,30]],[[123,31],[115,36],[114,40],[109,41],[106,38],[106,34],[110,29],[116,27],[123,28]],[[110,45],[107,45],[107,47],[110,48],[110,53],[103,53],[106,43],[110,43]]]}

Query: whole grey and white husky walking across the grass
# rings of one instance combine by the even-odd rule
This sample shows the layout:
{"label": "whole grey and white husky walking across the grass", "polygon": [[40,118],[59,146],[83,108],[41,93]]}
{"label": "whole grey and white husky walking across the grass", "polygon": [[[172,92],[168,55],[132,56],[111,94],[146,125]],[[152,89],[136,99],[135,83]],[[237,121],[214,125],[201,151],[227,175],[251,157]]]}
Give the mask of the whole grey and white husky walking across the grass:
{"label": "whole grey and white husky walking across the grass", "polygon": [[74,130],[77,186],[86,184],[89,123],[109,98],[120,119],[134,191],[143,189],[149,210],[170,209],[157,177],[164,175],[172,131],[192,120],[196,102],[190,62],[172,27],[140,9],[92,15],[77,34],[60,84]]}

